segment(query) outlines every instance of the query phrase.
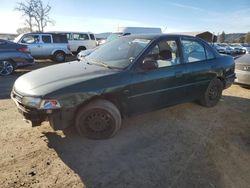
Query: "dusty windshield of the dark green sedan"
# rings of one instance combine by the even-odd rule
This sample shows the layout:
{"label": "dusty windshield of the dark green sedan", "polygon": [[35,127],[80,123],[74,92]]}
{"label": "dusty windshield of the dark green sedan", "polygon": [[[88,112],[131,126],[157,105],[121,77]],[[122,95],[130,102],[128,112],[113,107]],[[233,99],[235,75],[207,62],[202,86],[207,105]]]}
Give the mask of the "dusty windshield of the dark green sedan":
{"label": "dusty windshield of the dark green sedan", "polygon": [[123,69],[133,62],[149,42],[148,39],[121,37],[100,46],[86,60],[89,63]]}

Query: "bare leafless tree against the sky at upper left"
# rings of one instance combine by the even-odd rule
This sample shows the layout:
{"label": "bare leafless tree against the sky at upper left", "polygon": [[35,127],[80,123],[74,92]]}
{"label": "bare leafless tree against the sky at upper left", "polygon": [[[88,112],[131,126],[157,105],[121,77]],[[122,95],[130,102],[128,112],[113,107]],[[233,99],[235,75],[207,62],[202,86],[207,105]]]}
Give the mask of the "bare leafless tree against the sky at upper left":
{"label": "bare leafless tree against the sky at upper left", "polygon": [[49,17],[51,6],[48,3],[44,5],[42,0],[18,2],[16,10],[22,12],[25,23],[31,32],[34,27],[38,32],[43,32],[48,23],[54,24],[54,21]]}

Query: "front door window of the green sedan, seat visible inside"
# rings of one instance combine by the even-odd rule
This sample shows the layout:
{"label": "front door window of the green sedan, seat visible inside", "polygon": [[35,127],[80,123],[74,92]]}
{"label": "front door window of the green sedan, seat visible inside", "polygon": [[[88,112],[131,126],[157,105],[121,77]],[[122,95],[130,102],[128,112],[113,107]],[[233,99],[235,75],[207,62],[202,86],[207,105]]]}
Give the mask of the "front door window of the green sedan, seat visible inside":
{"label": "front door window of the green sedan, seat visible inside", "polygon": [[175,40],[163,40],[156,44],[145,57],[155,60],[158,68],[180,64],[179,50]]}

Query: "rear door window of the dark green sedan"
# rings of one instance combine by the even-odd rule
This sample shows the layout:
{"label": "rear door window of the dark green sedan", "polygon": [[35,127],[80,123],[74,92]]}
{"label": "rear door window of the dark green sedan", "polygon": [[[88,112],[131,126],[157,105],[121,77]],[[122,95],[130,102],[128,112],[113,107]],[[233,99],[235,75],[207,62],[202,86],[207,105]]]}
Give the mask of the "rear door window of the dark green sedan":
{"label": "rear door window of the dark green sedan", "polygon": [[206,53],[202,44],[195,40],[182,40],[181,42],[185,63],[206,60]]}

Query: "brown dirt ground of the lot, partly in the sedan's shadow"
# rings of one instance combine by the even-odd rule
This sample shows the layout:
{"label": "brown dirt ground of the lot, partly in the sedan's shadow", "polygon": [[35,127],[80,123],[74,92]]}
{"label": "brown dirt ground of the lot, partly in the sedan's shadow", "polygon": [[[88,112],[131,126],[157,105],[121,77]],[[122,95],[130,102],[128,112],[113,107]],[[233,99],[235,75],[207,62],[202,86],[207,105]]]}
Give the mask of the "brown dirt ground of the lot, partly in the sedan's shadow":
{"label": "brown dirt ground of the lot, partly in the sedan's shadow", "polygon": [[0,187],[250,187],[250,89],[134,116],[94,141],[22,120],[9,92],[25,71],[0,78]]}

